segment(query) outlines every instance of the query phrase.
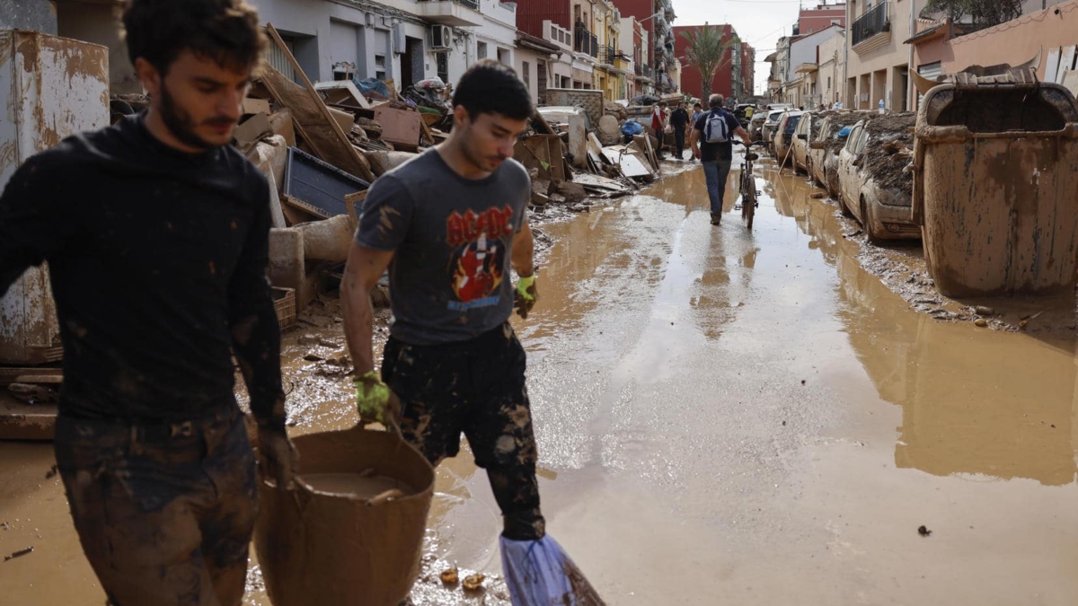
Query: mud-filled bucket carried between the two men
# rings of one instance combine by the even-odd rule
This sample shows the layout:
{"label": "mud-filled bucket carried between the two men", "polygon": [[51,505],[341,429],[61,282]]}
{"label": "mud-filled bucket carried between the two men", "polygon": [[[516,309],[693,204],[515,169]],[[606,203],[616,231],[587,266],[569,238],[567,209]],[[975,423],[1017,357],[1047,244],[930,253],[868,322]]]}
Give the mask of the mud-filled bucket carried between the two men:
{"label": "mud-filled bucket carried between the two men", "polygon": [[263,482],[254,546],[275,606],[397,606],[419,574],[434,470],[396,433],[301,436],[296,487]]}

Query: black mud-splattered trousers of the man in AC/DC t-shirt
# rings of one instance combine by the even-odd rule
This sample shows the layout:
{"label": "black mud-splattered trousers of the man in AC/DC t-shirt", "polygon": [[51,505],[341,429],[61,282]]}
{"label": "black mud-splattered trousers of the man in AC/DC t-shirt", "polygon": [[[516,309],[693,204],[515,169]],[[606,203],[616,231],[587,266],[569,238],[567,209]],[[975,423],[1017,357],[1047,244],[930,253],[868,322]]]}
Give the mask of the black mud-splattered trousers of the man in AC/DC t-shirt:
{"label": "black mud-splattered trousers of the man in AC/DC t-shirt", "polygon": [[462,343],[390,339],[382,362],[383,381],[401,399],[404,439],[438,465],[456,456],[464,432],[501,508],[502,534],[514,540],[545,535],[526,367],[509,322]]}

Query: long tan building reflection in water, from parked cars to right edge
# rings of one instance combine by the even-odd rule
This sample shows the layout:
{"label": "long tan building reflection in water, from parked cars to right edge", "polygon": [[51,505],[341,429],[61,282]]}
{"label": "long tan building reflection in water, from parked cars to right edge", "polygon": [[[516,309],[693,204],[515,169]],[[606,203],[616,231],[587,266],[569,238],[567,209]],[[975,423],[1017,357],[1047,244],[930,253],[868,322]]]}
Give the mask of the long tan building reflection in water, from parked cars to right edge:
{"label": "long tan building reflection in water, from parked cars to right edge", "polygon": [[[833,207],[790,192],[789,215],[807,215],[808,235],[837,265],[845,303],[837,316],[880,398],[902,407],[895,463],[934,476],[1075,481],[1074,340],[1054,345],[1026,334],[975,330],[909,312],[861,268],[856,243]],[[778,188],[778,195],[786,196]],[[785,204],[777,204],[780,211]],[[1054,425],[1054,427],[1052,427]]]}

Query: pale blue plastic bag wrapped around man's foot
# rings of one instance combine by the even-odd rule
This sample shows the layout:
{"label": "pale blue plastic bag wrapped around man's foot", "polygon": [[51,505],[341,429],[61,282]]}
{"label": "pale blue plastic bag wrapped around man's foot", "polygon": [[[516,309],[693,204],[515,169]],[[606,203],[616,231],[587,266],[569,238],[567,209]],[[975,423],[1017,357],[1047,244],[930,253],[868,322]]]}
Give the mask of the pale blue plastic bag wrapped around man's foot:
{"label": "pale blue plastic bag wrapped around man's foot", "polygon": [[499,545],[513,606],[605,606],[580,568],[549,535],[524,541],[501,537]]}

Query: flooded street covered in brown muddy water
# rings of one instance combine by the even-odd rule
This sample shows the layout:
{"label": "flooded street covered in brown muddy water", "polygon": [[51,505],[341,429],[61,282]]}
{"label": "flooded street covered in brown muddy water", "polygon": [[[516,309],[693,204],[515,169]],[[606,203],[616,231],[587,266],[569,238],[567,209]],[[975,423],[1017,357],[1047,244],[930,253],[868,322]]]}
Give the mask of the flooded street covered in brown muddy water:
{"label": "flooded street covered in brown muddy water", "polygon": [[[692,164],[542,226],[541,299],[513,321],[550,534],[612,605],[1073,604],[1074,331],[934,319],[862,267],[819,190],[758,166],[751,233],[736,173],[713,226]],[[343,343],[332,311],[287,336],[292,431],[355,423]],[[0,553],[34,547],[0,563],[0,603],[97,606],[52,464],[0,443]],[[466,446],[436,491],[413,602],[508,604],[437,582],[500,571]]]}

